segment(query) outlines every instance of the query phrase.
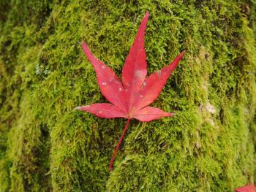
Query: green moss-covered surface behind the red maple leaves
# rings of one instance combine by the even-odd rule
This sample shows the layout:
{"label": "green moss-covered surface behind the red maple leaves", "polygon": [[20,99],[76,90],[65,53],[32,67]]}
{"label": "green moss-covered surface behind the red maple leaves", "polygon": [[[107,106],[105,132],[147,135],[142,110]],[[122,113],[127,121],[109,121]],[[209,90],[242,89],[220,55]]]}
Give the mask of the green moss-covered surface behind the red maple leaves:
{"label": "green moss-covered surface behind the red maple leaves", "polygon": [[[148,71],[184,60],[132,120],[72,111],[102,102],[80,47],[121,73],[148,11]],[[0,191],[233,191],[256,182],[254,1],[0,1]]]}

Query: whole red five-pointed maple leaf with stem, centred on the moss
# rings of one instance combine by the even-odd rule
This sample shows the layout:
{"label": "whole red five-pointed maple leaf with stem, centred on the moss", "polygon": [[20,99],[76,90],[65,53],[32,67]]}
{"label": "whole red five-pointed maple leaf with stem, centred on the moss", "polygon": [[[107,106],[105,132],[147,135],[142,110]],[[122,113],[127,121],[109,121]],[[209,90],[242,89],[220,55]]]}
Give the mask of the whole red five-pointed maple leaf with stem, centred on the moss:
{"label": "whole red five-pointed maple leaf with stem, centred on the moss", "polygon": [[184,55],[180,53],[174,61],[165,66],[163,69],[154,72],[146,78],[146,52],[144,50],[144,35],[146,24],[148,22],[149,14],[146,12],[143,18],[138,34],[135,37],[129,55],[126,58],[124,68],[121,74],[121,80],[116,76],[112,69],[99,61],[91,51],[82,43],[83,52],[86,53],[87,58],[94,66],[97,74],[97,82],[102,92],[110,104],[91,104],[82,107],[76,107],[75,110],[82,110],[91,112],[99,118],[127,118],[127,124],[124,128],[123,134],[116,146],[113,157],[110,161],[110,171],[112,170],[113,161],[116,156],[121,140],[127,131],[129,120],[132,118],[140,121],[150,121],[162,117],[171,117],[174,114],[164,112],[156,107],[147,107],[162,91],[167,78],[178,65],[178,62]]}

